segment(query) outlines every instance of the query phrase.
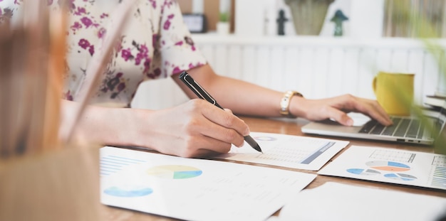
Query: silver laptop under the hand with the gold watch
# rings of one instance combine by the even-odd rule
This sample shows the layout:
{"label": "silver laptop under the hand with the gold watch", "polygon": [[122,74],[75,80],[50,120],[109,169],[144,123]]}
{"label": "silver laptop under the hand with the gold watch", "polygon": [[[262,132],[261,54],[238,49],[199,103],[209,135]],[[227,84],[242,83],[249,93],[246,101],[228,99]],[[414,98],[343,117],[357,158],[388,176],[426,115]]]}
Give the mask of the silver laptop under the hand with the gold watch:
{"label": "silver laptop under the hand with the gold watch", "polygon": [[[305,134],[432,145],[445,127],[446,102],[438,112],[426,116],[425,121],[416,117],[390,116],[393,121],[391,126],[383,126],[363,114],[352,113],[349,116],[355,122],[353,126],[343,126],[327,119],[310,122],[302,126],[301,130]],[[434,129],[426,129],[425,124],[434,125]]]}

